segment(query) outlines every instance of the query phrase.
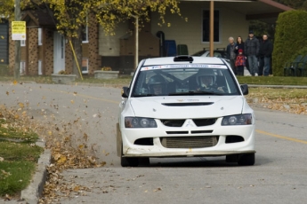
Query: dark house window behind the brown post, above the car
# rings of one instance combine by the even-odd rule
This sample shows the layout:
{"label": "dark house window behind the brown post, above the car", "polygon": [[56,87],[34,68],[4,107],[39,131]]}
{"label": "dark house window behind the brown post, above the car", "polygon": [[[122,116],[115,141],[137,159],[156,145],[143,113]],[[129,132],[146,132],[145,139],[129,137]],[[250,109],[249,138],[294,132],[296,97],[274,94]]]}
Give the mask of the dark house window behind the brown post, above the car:
{"label": "dark house window behind the brown post, above the car", "polygon": [[[203,42],[210,40],[210,11],[203,11]],[[214,11],[214,42],[220,42],[220,11]]]}

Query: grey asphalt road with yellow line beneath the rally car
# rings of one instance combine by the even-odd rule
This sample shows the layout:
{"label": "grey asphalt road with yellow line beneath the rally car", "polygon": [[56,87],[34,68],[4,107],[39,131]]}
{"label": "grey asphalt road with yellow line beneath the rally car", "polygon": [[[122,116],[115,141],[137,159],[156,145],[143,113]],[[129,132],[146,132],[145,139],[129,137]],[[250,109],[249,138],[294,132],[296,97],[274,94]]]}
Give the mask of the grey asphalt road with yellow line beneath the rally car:
{"label": "grey asphalt road with yellow line beneath the rally car", "polygon": [[[121,168],[116,153],[120,89],[81,85],[0,83],[1,104],[27,105],[28,115],[88,135],[105,167],[69,169],[66,183],[89,192],[59,203],[306,203],[307,115],[254,106],[256,161],[238,167],[224,157],[150,159],[149,167]],[[59,192],[60,193],[60,192]]]}

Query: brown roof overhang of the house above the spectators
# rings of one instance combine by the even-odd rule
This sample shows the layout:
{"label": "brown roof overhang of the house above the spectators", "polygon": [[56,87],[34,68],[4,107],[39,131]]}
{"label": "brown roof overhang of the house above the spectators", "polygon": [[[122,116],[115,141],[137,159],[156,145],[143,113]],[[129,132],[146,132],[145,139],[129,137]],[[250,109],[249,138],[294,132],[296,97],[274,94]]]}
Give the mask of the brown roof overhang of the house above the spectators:
{"label": "brown roof overhang of the house above the spectators", "polygon": [[[182,2],[208,2],[210,0],[181,0]],[[214,0],[214,7],[227,6],[231,10],[246,15],[246,20],[262,20],[275,23],[280,12],[294,10],[272,0]]]}

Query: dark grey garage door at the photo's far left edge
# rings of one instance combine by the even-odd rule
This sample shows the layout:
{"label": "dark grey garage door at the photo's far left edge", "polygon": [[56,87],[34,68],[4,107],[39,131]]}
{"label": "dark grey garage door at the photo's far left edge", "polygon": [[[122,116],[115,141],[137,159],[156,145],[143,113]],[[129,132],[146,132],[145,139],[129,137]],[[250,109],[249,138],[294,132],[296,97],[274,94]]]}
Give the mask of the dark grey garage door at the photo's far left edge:
{"label": "dark grey garage door at the photo's far left edge", "polygon": [[0,65],[7,65],[9,57],[8,24],[0,23]]}

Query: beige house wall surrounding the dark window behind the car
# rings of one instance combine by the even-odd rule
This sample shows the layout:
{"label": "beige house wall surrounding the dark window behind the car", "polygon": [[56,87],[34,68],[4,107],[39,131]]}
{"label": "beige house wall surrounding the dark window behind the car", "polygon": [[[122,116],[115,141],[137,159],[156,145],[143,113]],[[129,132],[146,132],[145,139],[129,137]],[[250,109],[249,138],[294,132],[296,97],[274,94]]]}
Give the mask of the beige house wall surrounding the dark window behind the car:
{"label": "beige house wall surrounding the dark window behind the car", "polygon": [[[176,44],[187,44],[189,54],[209,48],[209,43],[202,42],[202,12],[210,9],[209,2],[181,2],[182,17],[177,14],[166,14],[166,22],[170,27],[158,26],[158,13],[152,13],[151,33],[165,33],[166,40],[175,40]],[[214,48],[225,48],[228,38],[242,35],[246,39],[249,22],[244,14],[232,11],[220,2],[214,3],[214,10],[220,11],[220,42],[214,43]],[[188,18],[185,21],[184,18]]]}

